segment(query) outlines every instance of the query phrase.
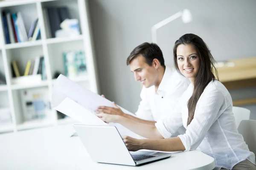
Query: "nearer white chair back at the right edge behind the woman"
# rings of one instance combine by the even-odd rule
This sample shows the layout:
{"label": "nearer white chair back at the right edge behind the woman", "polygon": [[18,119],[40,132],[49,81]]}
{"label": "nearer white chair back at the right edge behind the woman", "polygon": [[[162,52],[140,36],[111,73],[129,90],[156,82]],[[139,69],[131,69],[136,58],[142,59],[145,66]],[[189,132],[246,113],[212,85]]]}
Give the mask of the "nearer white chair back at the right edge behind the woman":
{"label": "nearer white chair back at the right edge behind the woman", "polygon": [[256,155],[256,120],[242,120],[237,130],[244,137],[249,150]]}

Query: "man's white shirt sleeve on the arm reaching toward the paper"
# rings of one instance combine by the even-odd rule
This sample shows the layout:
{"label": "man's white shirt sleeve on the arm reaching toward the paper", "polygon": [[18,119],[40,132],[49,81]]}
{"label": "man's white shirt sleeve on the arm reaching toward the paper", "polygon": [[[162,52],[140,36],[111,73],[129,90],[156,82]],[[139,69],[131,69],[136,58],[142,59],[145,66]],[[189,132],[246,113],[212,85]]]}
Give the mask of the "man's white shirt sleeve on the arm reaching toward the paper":
{"label": "man's white shirt sleeve on the arm reaching toward the paper", "polygon": [[140,93],[140,98],[141,98],[140,105],[139,105],[138,110],[135,113],[135,115],[140,119],[154,121],[154,118],[153,118],[153,115],[151,112],[151,108],[150,108],[150,104],[147,100],[147,93],[146,93],[145,87],[143,87],[143,89]]}

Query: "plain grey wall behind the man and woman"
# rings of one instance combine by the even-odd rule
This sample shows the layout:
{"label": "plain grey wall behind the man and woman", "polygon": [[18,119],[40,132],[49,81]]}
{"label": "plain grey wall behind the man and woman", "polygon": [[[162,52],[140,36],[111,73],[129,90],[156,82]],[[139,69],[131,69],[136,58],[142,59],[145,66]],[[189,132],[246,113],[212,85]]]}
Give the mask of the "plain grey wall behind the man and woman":
{"label": "plain grey wall behind the man and woman", "polygon": [[[173,65],[175,40],[185,33],[202,37],[217,61],[256,56],[256,0],[90,0],[89,6],[101,92],[132,112],[141,85],[126,58],[137,45],[151,42],[151,26],[177,11],[190,9],[193,22],[177,19],[157,32],[167,66]],[[243,90],[232,91],[240,94]]]}

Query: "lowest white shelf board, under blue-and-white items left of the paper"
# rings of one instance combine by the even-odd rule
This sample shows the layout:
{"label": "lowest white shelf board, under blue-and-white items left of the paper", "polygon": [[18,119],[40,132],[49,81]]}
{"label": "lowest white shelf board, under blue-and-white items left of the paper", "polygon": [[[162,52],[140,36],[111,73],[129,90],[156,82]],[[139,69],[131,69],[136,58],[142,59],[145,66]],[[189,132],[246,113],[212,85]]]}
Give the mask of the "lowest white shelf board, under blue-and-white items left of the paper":
{"label": "lowest white shelf board, under blue-and-white items left of the paper", "polygon": [[17,130],[26,130],[26,129],[33,129],[39,127],[47,127],[54,125],[49,120],[34,120],[29,122],[24,122],[23,124],[17,125]]}

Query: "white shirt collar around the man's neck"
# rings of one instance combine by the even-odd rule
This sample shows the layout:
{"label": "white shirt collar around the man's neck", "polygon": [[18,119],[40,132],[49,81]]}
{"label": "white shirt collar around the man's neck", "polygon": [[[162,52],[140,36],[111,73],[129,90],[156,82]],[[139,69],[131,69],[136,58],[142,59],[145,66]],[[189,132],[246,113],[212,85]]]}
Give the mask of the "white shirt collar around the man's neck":
{"label": "white shirt collar around the man's neck", "polygon": [[163,78],[162,78],[160,85],[157,89],[157,94],[164,95],[166,93],[166,90],[169,88],[169,81],[170,81],[172,72],[173,71],[171,68],[169,68],[169,67],[165,68]]}

